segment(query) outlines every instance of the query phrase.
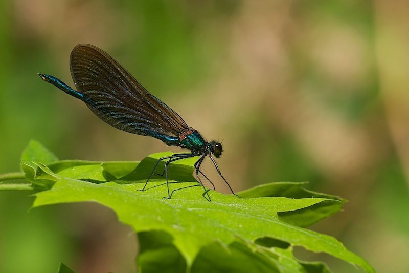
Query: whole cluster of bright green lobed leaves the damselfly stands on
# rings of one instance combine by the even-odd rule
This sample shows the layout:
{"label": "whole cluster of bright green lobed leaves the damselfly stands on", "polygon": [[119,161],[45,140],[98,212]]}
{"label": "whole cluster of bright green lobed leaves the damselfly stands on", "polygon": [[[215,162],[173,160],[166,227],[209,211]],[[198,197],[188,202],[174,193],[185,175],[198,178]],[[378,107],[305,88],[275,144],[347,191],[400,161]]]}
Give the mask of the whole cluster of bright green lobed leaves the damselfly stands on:
{"label": "whole cluster of bright green lobed leaves the damselfly stands on", "polygon": [[[323,252],[373,268],[335,238],[303,228],[339,211],[344,199],[306,190],[305,183],[277,182],[239,193],[243,198],[210,191],[192,173],[197,158],[169,164],[169,191],[157,165],[148,189],[140,192],[158,158],[141,162],[62,160],[31,141],[21,156],[22,169],[31,184],[1,184],[3,189],[40,190],[33,207],[66,202],[93,201],[110,207],[123,223],[139,233],[143,272],[329,272],[320,262],[303,262],[292,256],[294,246]],[[46,162],[46,163],[44,163]],[[3,180],[21,174],[6,174]],[[188,187],[188,188],[186,188]],[[0,187],[0,190],[2,188]]]}

